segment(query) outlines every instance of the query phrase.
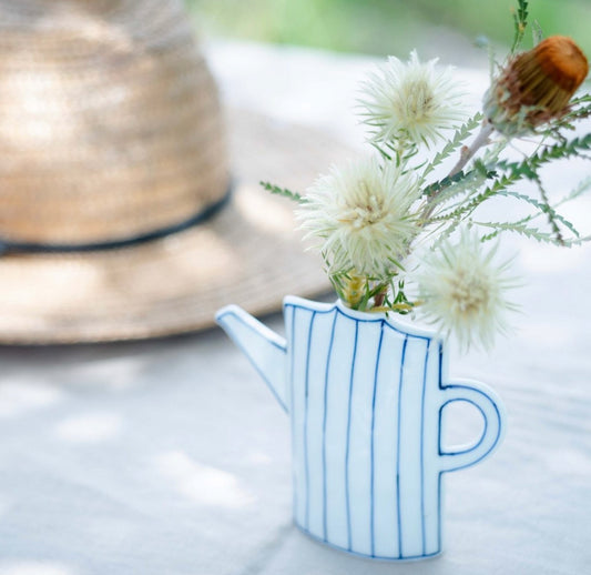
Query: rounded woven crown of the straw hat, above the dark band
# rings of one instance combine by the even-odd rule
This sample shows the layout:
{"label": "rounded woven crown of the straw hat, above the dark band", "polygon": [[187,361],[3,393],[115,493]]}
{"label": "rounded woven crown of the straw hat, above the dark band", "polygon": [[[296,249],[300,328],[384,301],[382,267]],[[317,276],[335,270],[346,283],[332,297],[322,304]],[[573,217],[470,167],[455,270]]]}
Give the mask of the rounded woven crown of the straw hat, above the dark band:
{"label": "rounded woven crown of the straw hat, above the dark band", "polygon": [[0,0],[0,240],[129,240],[227,185],[217,90],[182,2]]}

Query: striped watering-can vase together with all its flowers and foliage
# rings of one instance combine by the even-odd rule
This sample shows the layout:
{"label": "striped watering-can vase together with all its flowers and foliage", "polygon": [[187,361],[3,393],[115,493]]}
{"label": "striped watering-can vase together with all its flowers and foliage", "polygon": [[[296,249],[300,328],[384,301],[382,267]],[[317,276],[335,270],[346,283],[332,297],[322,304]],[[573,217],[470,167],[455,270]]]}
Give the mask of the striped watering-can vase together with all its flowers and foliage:
{"label": "striped watering-can vase together with all its flowers and foliage", "polygon": [[[591,97],[573,98],[587,59],[569,38],[542,40],[538,31],[520,52],[524,0],[514,23],[482,111],[465,119],[461,87],[436,61],[390,58],[363,84],[371,155],[333,168],[305,195],[263,184],[297,202],[336,303],[287,296],[285,337],[235,305],[217,313],[289,414],[296,525],[348,553],[390,561],[441,553],[442,475],[482,461],[502,438],[499,399],[481,383],[450,381],[445,353],[450,334],[465,349],[489,347],[507,330],[516,309],[507,292],[518,282],[498,261],[496,239],[518,233],[564,246],[590,239],[559,210],[591,179],[551,202],[541,174],[553,161],[589,158],[591,134],[569,138],[591,115]],[[532,153],[505,154],[526,138]],[[520,190],[524,181],[537,195]],[[529,212],[489,221],[480,209],[493,199]],[[421,315],[437,331],[398,314]],[[485,420],[468,446],[442,444],[442,413],[456,401]]]}

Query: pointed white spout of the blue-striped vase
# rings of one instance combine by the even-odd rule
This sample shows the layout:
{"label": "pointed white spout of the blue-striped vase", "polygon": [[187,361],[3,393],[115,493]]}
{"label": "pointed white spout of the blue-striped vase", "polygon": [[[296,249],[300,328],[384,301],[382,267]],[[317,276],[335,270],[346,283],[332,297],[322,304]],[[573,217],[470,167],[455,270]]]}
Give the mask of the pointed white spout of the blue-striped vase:
{"label": "pointed white spout of the blue-striped vase", "polygon": [[248,357],[287,411],[286,341],[237,305],[222,307],[215,321]]}

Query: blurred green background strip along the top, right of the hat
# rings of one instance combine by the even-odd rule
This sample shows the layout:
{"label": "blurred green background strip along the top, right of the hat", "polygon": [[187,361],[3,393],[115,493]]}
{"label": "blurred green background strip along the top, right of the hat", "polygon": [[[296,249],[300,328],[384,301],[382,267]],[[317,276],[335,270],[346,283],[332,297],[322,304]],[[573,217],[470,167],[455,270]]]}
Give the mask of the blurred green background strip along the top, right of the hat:
{"label": "blurred green background strip along the top, right of the hat", "polygon": [[[185,0],[202,33],[377,56],[486,36],[512,39],[517,0]],[[530,0],[546,36],[572,37],[591,54],[591,0]],[[527,37],[531,44],[531,34]]]}

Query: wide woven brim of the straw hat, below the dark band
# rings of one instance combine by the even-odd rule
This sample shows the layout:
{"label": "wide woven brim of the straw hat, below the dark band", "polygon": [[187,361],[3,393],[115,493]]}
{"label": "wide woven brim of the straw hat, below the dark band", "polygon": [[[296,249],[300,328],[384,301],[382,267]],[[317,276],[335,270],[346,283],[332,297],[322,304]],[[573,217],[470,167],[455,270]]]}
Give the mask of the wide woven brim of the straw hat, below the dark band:
{"label": "wide woven brim of the straw hat, below the dark band", "polygon": [[264,314],[286,293],[328,292],[319,256],[296,232],[294,204],[258,181],[302,190],[350,151],[244,111],[228,125],[234,193],[207,222],[121,250],[0,258],[0,342],[165,336],[212,326],[227,303]]}

